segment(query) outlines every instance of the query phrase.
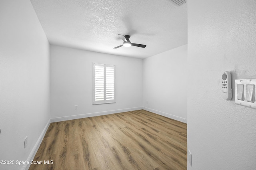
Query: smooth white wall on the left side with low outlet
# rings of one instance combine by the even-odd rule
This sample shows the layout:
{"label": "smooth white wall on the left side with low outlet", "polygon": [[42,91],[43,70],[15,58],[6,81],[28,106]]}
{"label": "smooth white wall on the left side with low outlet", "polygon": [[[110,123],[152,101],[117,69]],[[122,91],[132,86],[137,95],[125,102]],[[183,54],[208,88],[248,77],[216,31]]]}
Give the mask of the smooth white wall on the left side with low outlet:
{"label": "smooth white wall on the left side with low outlet", "polygon": [[0,160],[26,161],[35,150],[50,119],[49,68],[49,43],[30,1],[1,0]]}

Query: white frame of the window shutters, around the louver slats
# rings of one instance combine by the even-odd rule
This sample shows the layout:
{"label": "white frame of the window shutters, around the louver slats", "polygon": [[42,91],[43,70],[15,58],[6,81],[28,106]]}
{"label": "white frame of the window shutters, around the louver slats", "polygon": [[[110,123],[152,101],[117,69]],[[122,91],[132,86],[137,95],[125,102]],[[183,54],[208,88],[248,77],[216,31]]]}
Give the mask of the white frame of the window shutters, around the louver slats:
{"label": "white frame of the window shutters, around the louver slats", "polygon": [[[103,91],[103,95],[104,95],[104,97],[103,97],[103,100],[96,100],[96,74],[95,74],[95,72],[96,72],[96,67],[104,67],[104,76],[103,76],[103,79],[104,79],[104,91]],[[107,76],[106,76],[106,74],[107,74],[107,71],[106,71],[106,69],[107,68],[113,68],[113,70],[114,70],[114,83],[111,83],[111,84],[113,84],[114,85],[114,88],[113,88],[113,92],[114,92],[114,95],[113,95],[113,97],[114,97],[114,99],[107,99],[107,97],[106,97],[106,92],[107,92],[107,90],[106,90],[106,86],[107,86],[107,82],[106,82],[106,80],[107,80]],[[92,63],[92,105],[101,105],[101,104],[108,104],[108,103],[116,103],[116,65],[110,65],[110,64],[100,64],[100,63]]]}

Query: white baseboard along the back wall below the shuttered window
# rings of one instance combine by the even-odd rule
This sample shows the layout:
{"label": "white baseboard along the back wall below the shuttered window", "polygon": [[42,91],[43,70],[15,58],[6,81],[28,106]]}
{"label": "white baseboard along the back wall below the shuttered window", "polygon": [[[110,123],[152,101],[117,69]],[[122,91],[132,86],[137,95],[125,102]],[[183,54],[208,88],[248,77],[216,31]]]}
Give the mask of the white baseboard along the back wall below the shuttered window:
{"label": "white baseboard along the back wall below the shuttered window", "polygon": [[109,114],[114,114],[114,113],[122,113],[122,112],[128,112],[128,111],[136,111],[136,110],[141,110],[141,109],[142,109],[142,107],[133,107],[133,108],[127,108],[127,109],[112,110],[112,111],[104,111],[104,112],[96,112],[96,113],[86,113],[86,114],[82,114],[82,115],[57,117],[57,118],[52,118],[51,119],[51,123],[53,123],[53,122],[61,122],[61,121],[70,121],[70,120],[73,120],[73,119],[81,119],[81,118],[86,118],[86,117],[109,115]]}

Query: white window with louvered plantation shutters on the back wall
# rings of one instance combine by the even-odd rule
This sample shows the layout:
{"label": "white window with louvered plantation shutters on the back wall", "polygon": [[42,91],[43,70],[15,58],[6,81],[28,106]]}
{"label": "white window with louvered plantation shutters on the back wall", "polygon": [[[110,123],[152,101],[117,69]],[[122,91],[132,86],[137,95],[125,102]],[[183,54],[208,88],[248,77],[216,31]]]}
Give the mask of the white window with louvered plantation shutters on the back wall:
{"label": "white window with louvered plantation shutters on the back wall", "polygon": [[93,64],[93,105],[116,103],[115,77],[115,65]]}

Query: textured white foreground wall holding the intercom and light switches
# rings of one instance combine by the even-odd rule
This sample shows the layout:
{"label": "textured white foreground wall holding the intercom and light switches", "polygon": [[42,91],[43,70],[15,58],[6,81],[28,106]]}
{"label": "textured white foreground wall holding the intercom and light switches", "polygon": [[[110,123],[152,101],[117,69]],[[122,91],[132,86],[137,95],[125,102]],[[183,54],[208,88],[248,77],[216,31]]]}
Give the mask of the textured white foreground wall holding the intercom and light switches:
{"label": "textured white foreground wall holding the intercom and light switches", "polygon": [[188,1],[188,170],[255,170],[256,109],[224,101],[222,71],[256,78],[256,1]]}

